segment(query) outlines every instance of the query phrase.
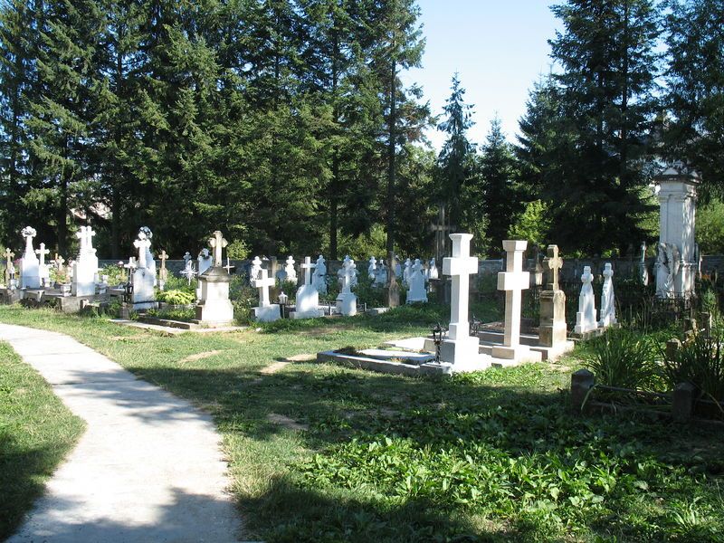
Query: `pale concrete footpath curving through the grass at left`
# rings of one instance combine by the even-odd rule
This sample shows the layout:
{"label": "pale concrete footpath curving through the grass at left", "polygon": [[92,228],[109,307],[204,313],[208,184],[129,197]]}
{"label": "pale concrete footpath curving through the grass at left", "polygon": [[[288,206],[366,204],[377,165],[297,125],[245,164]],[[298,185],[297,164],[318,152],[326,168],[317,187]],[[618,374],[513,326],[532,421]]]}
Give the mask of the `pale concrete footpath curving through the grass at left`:
{"label": "pale concrete footpath curving through the grass at left", "polygon": [[211,417],[54,332],[0,324],[86,432],[11,543],[238,541]]}

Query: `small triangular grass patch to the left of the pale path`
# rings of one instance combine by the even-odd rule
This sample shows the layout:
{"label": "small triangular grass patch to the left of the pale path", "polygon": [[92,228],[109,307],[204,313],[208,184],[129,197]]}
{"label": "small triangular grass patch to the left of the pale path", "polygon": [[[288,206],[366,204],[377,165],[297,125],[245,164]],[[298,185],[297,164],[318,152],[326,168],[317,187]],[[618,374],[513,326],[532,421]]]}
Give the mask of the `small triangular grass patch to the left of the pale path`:
{"label": "small triangular grass patch to the left of the pale path", "polygon": [[84,424],[0,342],[0,540],[10,536]]}

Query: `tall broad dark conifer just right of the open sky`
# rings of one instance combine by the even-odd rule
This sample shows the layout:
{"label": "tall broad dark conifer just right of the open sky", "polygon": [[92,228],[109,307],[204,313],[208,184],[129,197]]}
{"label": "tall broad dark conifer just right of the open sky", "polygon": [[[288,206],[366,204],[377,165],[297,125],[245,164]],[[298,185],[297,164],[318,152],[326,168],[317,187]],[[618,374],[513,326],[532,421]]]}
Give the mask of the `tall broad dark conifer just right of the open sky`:
{"label": "tall broad dark conifer just right of the open sky", "polygon": [[550,41],[562,67],[557,131],[573,145],[558,156],[563,177],[544,178],[541,194],[556,210],[558,244],[624,250],[644,239],[639,222],[649,210],[641,190],[656,107],[656,13],[650,0],[569,0],[552,9],[564,25]]}

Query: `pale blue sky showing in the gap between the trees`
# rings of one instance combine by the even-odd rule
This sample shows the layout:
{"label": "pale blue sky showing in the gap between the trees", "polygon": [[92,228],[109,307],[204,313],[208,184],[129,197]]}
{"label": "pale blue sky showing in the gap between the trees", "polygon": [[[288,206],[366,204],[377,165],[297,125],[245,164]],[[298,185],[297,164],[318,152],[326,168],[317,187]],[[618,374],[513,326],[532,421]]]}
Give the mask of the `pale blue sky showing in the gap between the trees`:
{"label": "pale blue sky showing in the gap between the trees", "polygon": [[[555,2],[554,2],[555,3]],[[548,0],[418,0],[427,39],[423,67],[402,74],[417,82],[434,114],[450,96],[452,74],[460,75],[465,101],[474,106],[470,139],[481,144],[496,112],[510,141],[525,112],[528,93],[550,71],[550,47],[558,27]],[[444,134],[428,132],[439,149]]]}

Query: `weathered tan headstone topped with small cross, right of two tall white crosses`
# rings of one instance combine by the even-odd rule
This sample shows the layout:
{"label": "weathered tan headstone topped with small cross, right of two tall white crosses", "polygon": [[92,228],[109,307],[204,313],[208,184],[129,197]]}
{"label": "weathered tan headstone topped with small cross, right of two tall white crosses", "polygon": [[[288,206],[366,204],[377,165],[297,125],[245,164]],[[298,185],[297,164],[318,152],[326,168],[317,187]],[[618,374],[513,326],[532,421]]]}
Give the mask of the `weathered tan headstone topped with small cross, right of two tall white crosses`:
{"label": "weathered tan headstone topped with small cross, right of two tall white crosses", "polygon": [[547,275],[546,288],[540,293],[539,343],[543,347],[557,348],[567,343],[566,293],[560,289],[558,278],[563,259],[558,246],[548,245],[543,269]]}

